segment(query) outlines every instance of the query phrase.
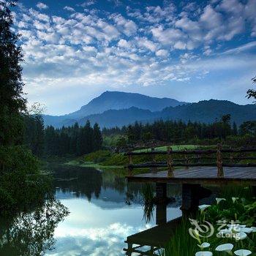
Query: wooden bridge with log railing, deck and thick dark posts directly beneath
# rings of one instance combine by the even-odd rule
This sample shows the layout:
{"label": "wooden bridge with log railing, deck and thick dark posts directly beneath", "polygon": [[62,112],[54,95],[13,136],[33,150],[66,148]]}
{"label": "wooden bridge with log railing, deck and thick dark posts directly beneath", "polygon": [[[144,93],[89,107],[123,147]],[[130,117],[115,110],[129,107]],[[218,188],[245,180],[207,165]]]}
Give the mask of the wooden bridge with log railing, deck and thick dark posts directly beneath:
{"label": "wooden bridge with log railing, deck and thick dark posts directly beneath", "polygon": [[[128,152],[128,182],[154,182],[157,197],[166,197],[166,184],[182,184],[182,206],[184,211],[197,208],[198,193],[203,196],[204,184],[248,184],[256,193],[256,148]],[[160,161],[157,162],[157,156]],[[133,164],[136,156],[146,156],[149,162]],[[176,168],[178,167],[178,168]],[[149,168],[150,172],[133,175],[135,169]],[[160,170],[159,170],[160,168]],[[176,168],[176,169],[175,169]]]}

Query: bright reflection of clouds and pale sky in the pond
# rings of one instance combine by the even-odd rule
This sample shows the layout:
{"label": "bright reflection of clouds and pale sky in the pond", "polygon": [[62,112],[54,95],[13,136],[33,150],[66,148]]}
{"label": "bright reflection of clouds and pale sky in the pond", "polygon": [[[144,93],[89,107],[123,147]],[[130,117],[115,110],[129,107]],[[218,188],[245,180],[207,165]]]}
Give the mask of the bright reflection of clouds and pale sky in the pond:
{"label": "bright reflection of clouds and pale sky in the pond", "polygon": [[[57,195],[57,194],[56,194]],[[70,214],[55,230],[56,244],[50,256],[76,255],[124,255],[123,249],[127,236],[154,226],[155,212],[152,222],[146,224],[143,220],[143,206],[123,205],[113,200],[86,197],[61,197],[61,203],[69,208]],[[115,197],[116,200],[116,197]],[[179,208],[167,208],[167,219],[180,216]]]}

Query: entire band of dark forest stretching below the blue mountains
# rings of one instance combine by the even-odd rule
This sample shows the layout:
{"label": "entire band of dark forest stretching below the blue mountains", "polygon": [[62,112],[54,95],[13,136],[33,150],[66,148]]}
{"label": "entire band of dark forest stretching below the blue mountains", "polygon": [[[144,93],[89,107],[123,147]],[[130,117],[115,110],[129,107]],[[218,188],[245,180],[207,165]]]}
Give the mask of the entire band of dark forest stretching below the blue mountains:
{"label": "entire band of dark forest stretching below the blue mountains", "polygon": [[[84,126],[78,123],[71,127],[44,127],[42,116],[33,114],[24,116],[25,132],[23,143],[37,157],[79,157],[99,149],[106,148],[103,140],[118,139],[113,147],[131,148],[143,146],[152,140],[159,143],[195,143],[216,144],[234,142],[233,146],[256,144],[256,121],[246,121],[237,127],[230,124],[230,115],[222,116],[221,120],[211,124],[184,121],[154,121],[152,124],[135,122],[129,126],[100,129],[95,123],[91,126],[86,121]],[[241,145],[239,145],[241,142]],[[108,146],[107,146],[108,148]]]}

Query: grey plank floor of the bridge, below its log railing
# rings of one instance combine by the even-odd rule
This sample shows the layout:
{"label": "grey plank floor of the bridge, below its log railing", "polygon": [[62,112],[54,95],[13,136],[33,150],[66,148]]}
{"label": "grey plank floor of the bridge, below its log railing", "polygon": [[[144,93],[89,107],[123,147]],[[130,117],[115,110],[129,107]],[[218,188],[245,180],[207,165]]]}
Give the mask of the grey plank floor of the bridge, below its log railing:
{"label": "grey plank floor of the bridge, below its log railing", "polygon": [[249,183],[256,185],[256,167],[223,167],[224,177],[217,177],[217,167],[189,167],[173,171],[173,176],[168,176],[168,171],[143,173],[127,176],[132,182],[159,182],[176,184],[220,184],[220,183]]}

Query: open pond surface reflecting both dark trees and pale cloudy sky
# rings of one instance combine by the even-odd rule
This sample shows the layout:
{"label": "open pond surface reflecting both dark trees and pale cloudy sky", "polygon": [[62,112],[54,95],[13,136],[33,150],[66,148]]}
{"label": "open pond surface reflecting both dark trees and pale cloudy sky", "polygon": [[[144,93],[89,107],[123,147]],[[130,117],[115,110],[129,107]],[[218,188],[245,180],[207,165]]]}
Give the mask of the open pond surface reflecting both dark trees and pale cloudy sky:
{"label": "open pond surface reflecting both dark trees and pale cloudy sky", "polygon": [[[142,185],[127,184],[124,176],[122,170],[56,170],[56,197],[71,213],[56,228],[56,249],[48,255],[124,255],[127,236],[155,225],[155,211],[143,219]],[[167,208],[167,219],[181,214],[179,203]]]}

